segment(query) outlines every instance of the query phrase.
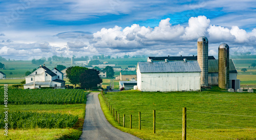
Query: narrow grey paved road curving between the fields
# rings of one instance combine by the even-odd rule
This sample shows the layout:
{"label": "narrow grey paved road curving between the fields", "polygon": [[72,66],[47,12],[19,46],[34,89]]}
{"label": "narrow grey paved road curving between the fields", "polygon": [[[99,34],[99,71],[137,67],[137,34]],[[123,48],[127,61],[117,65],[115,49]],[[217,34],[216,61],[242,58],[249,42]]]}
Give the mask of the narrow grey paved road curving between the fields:
{"label": "narrow grey paved road curving between the fields", "polygon": [[100,107],[99,93],[90,93],[86,102],[82,135],[79,139],[140,139],[113,127],[105,118]]}

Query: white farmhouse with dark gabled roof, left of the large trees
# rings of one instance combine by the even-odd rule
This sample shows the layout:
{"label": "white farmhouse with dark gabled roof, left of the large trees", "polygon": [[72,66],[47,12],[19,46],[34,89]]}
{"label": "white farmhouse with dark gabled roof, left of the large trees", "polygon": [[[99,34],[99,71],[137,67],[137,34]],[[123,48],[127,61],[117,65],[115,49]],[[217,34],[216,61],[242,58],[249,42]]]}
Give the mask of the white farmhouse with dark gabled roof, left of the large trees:
{"label": "white farmhouse with dark gabled roof, left of the large trees", "polygon": [[45,65],[26,76],[24,89],[34,89],[41,87],[54,87],[55,89],[64,89],[65,80],[63,73],[58,69],[48,69]]}

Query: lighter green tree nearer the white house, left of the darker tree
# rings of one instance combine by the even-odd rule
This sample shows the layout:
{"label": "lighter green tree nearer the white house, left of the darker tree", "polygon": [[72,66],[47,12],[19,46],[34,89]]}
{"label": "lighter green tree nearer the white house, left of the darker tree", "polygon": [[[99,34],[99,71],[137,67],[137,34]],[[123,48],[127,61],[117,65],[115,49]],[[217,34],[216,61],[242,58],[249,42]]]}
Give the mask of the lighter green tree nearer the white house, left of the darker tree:
{"label": "lighter green tree nearer the white house, left of the darker tree", "polygon": [[73,85],[81,85],[80,83],[80,76],[81,74],[88,70],[88,68],[86,67],[79,67],[79,66],[72,66],[67,68],[67,77],[69,78],[70,83],[72,83]]}

